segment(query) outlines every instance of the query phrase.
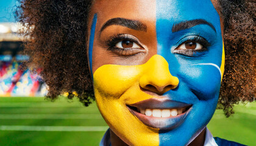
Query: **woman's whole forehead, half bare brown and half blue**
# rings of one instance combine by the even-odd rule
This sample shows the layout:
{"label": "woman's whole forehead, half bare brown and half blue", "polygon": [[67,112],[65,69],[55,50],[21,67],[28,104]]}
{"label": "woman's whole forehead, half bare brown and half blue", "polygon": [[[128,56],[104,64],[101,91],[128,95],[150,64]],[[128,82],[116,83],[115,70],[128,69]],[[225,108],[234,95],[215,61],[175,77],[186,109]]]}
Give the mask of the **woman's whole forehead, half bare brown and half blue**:
{"label": "woman's whole forehead, half bare brown and half blue", "polygon": [[[102,15],[102,19],[119,16],[145,20],[154,19],[156,16],[177,21],[193,19],[194,16],[210,19],[216,15],[216,4],[216,0],[96,0],[93,2],[90,16],[98,13],[98,16]],[[100,19],[98,23],[101,23],[99,21]]]}

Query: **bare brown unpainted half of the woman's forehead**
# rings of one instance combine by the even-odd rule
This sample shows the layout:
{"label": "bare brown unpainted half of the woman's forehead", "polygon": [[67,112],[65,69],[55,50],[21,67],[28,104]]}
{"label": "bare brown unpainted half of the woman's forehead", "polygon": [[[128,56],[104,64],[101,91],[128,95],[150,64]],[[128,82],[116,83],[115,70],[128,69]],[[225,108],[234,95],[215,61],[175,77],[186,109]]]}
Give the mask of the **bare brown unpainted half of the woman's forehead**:
{"label": "bare brown unpainted half of the woman's forehead", "polygon": [[155,21],[155,0],[97,0],[93,3],[90,18],[97,13],[97,25],[111,18],[140,19],[144,23]]}

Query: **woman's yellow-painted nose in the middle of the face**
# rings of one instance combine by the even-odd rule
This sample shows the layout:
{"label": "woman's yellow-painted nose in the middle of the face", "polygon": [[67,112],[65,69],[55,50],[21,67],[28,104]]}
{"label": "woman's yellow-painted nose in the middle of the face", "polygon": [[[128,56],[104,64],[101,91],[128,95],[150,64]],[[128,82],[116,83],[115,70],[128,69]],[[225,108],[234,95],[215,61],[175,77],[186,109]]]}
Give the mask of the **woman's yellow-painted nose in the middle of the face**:
{"label": "woman's yellow-painted nose in the middle of the face", "polygon": [[144,74],[140,78],[143,89],[163,94],[177,88],[179,79],[169,72],[169,64],[161,55],[154,55],[144,64]]}

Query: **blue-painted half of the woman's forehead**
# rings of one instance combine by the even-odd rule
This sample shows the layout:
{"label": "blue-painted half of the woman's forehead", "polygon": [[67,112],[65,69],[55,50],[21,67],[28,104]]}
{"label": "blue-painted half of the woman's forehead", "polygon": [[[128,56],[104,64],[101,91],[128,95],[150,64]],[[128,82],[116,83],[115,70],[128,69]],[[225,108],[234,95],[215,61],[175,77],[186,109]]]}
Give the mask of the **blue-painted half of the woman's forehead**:
{"label": "blue-painted half of the woman's forehead", "polygon": [[157,19],[168,19],[176,22],[205,19],[211,22],[215,21],[216,16],[218,16],[210,0],[157,0],[156,5]]}

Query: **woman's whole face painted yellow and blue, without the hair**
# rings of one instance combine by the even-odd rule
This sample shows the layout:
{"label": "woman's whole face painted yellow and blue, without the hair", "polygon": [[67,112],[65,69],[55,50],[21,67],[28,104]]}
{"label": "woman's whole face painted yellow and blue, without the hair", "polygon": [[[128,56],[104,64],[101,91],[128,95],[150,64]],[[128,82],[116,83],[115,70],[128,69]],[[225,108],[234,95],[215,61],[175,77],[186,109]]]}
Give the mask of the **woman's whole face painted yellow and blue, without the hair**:
{"label": "woman's whole face painted yellow and blue, without the hair", "polygon": [[98,0],[88,28],[96,102],[118,137],[185,145],[205,128],[224,69],[210,0]]}

